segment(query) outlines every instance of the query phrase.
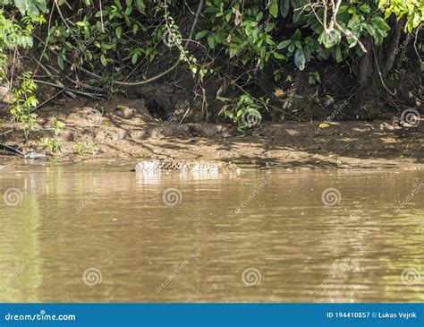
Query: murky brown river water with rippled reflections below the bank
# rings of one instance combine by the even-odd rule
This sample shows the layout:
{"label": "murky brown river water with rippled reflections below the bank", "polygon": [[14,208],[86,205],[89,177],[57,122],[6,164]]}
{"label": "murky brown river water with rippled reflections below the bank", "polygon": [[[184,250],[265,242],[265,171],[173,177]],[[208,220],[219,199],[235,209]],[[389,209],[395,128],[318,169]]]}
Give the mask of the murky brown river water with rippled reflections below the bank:
{"label": "murky brown river water with rippled reflections below the bank", "polygon": [[424,301],[424,173],[0,170],[0,301]]}

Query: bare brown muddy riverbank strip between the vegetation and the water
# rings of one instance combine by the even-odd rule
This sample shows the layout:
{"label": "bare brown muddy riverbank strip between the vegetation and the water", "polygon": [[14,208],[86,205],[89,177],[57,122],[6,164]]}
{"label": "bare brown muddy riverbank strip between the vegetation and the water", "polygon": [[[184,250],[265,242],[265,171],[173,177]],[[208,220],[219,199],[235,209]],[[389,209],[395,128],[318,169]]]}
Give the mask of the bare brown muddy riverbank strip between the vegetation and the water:
{"label": "bare brown muddy riverbank strip between the vegetation and the water", "polygon": [[[57,136],[52,116],[65,124]],[[17,125],[3,121],[0,142],[22,152],[47,151],[47,159],[64,161],[171,157],[282,168],[424,167],[422,121],[409,129],[390,121],[340,122],[322,129],[322,121],[262,122],[242,134],[233,125],[180,124],[180,119],[151,116],[141,99],[74,102],[40,110],[27,142]],[[49,153],[47,137],[60,141],[62,151]]]}

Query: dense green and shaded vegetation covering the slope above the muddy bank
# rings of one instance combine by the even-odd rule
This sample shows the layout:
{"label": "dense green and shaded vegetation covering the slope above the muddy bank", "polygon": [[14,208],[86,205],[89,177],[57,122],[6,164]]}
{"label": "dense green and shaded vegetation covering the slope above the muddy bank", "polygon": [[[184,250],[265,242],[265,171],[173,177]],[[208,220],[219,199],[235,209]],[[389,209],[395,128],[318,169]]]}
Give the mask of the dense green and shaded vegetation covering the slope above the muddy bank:
{"label": "dense green and shaded vegetation covering the slope above the muddy bank", "polygon": [[77,97],[140,97],[161,120],[240,131],[423,103],[418,0],[1,3],[1,96],[26,131],[40,106]]}

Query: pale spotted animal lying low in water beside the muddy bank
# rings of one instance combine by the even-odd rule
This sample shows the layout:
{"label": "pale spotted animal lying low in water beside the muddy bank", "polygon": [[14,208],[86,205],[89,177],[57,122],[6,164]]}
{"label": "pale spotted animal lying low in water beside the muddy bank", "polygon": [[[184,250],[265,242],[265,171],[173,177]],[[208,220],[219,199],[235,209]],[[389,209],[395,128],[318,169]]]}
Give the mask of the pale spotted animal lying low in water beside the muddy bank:
{"label": "pale spotted animal lying low in water beside the muddy bank", "polygon": [[140,161],[135,167],[137,173],[162,170],[193,172],[240,171],[240,169],[231,162],[197,159],[148,159]]}

